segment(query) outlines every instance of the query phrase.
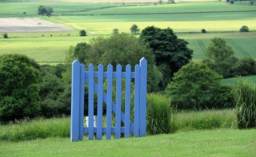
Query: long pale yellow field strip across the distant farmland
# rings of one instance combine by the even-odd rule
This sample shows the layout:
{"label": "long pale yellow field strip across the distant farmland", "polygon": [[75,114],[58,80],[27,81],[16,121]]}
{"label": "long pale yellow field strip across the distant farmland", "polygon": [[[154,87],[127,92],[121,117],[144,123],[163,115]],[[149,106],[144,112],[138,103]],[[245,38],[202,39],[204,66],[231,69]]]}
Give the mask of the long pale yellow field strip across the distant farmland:
{"label": "long pale yellow field strip across the distant farmland", "polygon": [[250,20],[226,20],[226,21],[186,21],[186,22],[68,22],[66,25],[75,29],[86,29],[98,34],[112,33],[114,28],[119,32],[130,33],[130,26],[136,24],[141,30],[146,26],[160,28],[170,27],[175,32],[200,32],[206,29],[208,32],[239,31],[242,26],[248,26],[250,30],[256,30],[256,18]]}

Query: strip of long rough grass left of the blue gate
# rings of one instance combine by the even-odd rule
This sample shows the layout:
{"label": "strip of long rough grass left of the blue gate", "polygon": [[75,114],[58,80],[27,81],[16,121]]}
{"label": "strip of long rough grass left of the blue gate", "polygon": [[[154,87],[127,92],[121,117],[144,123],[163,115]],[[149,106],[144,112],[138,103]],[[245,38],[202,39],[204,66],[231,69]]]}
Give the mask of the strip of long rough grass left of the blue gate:
{"label": "strip of long rough grass left of the blue gate", "polygon": [[46,139],[48,137],[69,137],[70,118],[38,118],[16,121],[14,124],[0,125],[0,140],[22,141]]}

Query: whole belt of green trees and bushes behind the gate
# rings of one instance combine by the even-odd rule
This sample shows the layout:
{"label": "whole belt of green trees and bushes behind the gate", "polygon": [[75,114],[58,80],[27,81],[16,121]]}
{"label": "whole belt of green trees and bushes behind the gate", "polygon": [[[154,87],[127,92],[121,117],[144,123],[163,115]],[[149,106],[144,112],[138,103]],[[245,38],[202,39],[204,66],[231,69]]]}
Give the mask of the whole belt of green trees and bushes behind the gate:
{"label": "whole belt of green trees and bushes behind the gate", "polygon": [[188,42],[178,38],[170,28],[148,26],[139,37],[116,33],[70,46],[66,52],[69,64],[66,65],[38,65],[21,54],[4,54],[0,57],[1,121],[69,115],[70,63],[75,59],[85,65],[102,63],[105,67],[108,64],[115,67],[121,64],[124,68],[127,64],[134,67],[145,57],[148,92],[169,96],[177,108],[232,106],[232,88],[219,81],[222,77],[256,74],[254,59],[238,60],[225,39],[216,37],[207,48],[206,58],[195,63],[191,61],[193,51],[187,45]]}

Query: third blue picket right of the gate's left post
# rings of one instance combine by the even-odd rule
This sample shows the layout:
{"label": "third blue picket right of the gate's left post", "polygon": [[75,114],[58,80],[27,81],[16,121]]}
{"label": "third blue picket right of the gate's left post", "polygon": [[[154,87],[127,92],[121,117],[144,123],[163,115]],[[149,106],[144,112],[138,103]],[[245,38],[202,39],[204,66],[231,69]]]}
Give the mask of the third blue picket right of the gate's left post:
{"label": "third blue picket right of the gate's left post", "polygon": [[103,65],[98,65],[97,139],[102,139]]}

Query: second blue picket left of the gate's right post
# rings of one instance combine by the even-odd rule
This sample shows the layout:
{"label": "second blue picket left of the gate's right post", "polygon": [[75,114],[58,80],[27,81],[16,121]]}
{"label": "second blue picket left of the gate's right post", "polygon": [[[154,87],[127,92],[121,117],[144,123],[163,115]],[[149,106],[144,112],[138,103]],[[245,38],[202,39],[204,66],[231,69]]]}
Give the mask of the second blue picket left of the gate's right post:
{"label": "second blue picket left of the gate's right post", "polygon": [[126,65],[125,137],[130,137],[130,65]]}

